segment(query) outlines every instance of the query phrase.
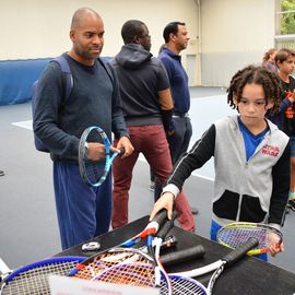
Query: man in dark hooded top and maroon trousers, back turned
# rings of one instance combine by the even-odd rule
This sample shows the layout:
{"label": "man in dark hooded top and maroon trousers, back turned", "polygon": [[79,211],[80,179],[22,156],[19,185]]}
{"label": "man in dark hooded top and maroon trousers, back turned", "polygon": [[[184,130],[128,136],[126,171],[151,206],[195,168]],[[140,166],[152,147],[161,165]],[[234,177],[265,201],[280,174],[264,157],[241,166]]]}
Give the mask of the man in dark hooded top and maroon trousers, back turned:
{"label": "man in dark hooded top and maroon trousers, back turned", "polygon": [[[121,36],[125,45],[111,66],[118,76],[123,116],[134,152],[127,158],[114,161],[113,228],[128,223],[129,189],[140,153],[161,181],[161,189],[173,169],[166,140],[174,133],[167,73],[163,63],[150,52],[151,36],[143,22],[127,21]],[[176,211],[180,226],[193,232],[194,220],[184,193],[176,202]]]}

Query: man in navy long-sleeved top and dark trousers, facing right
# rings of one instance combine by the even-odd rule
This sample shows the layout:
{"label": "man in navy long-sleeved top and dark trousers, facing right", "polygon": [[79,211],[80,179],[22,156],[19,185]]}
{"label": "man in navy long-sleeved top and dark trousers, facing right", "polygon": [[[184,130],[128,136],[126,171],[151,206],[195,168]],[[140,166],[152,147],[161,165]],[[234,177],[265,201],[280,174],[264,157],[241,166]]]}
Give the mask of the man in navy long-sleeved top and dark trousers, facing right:
{"label": "man in navy long-sleeved top and dark trousers, facing right", "polygon": [[[187,152],[192,135],[192,127],[189,118],[190,93],[188,75],[181,64],[180,52],[188,46],[189,35],[185,23],[168,23],[163,37],[165,45],[161,47],[160,60],[164,63],[172,88],[174,102],[174,125],[175,132],[169,137],[169,150],[173,165],[179,160],[181,154]],[[158,196],[157,196],[158,197]],[[197,208],[191,208],[193,214],[198,214]]]}

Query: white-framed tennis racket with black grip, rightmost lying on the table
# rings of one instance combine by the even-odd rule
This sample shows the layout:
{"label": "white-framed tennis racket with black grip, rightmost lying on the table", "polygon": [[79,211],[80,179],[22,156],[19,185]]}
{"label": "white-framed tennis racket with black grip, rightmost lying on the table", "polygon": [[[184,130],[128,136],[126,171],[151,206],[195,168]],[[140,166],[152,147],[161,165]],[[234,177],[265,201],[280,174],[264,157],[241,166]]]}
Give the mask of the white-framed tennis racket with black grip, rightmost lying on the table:
{"label": "white-framed tennis racket with black grip, rightmost lying on the table", "polygon": [[[233,264],[240,258],[243,258],[250,249],[255,248],[258,245],[258,240],[256,238],[249,238],[245,244],[240,245],[235,250],[232,250],[229,253],[224,256],[222,259],[217,260],[214,263],[211,263],[206,267],[199,268],[196,270],[172,273],[169,274],[169,280],[173,286],[174,295],[211,295],[214,283],[216,279],[221,275],[224,268]],[[192,276],[198,276],[201,274],[205,274],[208,272],[213,271],[213,274],[205,287],[200,282],[191,279]],[[161,294],[169,294],[166,291],[166,286],[163,285],[161,287]]]}

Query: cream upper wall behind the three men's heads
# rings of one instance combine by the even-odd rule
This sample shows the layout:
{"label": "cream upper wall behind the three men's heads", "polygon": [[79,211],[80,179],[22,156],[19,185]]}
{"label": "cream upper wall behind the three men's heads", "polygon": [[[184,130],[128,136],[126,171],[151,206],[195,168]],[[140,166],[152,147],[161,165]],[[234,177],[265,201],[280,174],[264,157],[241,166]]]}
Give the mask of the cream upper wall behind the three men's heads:
{"label": "cream upper wall behind the three men's heads", "polygon": [[[146,23],[154,55],[164,43],[162,33],[168,22],[184,21],[192,38],[197,36],[193,0],[0,0],[0,60],[54,57],[69,50],[71,17],[81,7],[96,10],[104,20],[105,56],[118,52],[121,26],[130,19]],[[194,46],[186,51],[194,52]]]}

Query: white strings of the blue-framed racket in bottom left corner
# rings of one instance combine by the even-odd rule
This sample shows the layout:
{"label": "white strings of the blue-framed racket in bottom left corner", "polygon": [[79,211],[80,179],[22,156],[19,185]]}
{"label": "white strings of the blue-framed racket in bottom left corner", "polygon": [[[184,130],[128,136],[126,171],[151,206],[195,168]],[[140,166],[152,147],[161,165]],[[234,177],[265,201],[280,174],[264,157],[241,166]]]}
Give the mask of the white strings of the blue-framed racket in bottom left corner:
{"label": "white strings of the blue-framed racket in bottom left corner", "polygon": [[1,295],[50,294],[48,275],[67,275],[79,261],[55,262],[21,272],[1,287]]}

